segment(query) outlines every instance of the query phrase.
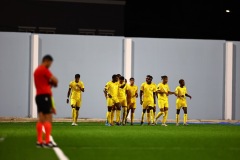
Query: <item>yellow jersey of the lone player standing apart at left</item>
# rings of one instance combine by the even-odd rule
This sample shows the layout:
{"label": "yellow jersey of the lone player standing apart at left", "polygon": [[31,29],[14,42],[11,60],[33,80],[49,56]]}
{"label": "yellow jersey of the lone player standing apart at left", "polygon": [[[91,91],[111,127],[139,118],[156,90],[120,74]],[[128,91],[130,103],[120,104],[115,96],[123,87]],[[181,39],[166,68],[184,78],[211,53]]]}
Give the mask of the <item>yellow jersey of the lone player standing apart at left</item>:
{"label": "yellow jersey of the lone player standing apart at left", "polygon": [[71,88],[71,99],[82,99],[82,91],[81,88],[84,88],[84,84],[82,81],[75,82],[75,80],[69,83],[69,88]]}

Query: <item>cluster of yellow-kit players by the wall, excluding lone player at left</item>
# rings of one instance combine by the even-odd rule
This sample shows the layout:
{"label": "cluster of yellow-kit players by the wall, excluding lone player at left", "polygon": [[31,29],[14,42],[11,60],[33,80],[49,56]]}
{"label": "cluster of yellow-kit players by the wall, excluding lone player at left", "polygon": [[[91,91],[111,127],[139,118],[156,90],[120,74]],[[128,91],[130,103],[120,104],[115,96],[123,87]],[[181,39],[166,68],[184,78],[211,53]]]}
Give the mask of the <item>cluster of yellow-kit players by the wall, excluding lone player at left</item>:
{"label": "cluster of yellow-kit players by the wall, excluding lone player at left", "polygon": [[[185,81],[179,80],[179,86],[175,92],[171,92],[168,86],[168,77],[162,76],[162,82],[156,85],[152,82],[151,75],[146,76],[146,82],[141,84],[140,95],[138,87],[134,84],[134,78],[130,78],[130,83],[120,74],[112,76],[112,80],[107,82],[104,88],[104,95],[107,101],[106,125],[114,125],[114,116],[116,114],[116,125],[126,125],[127,116],[131,111],[131,125],[134,121],[134,111],[137,106],[136,98],[140,97],[142,105],[141,125],[144,123],[144,117],[147,112],[148,125],[156,125],[158,119],[163,116],[162,125],[167,126],[168,118],[168,96],[175,95],[176,98],[176,125],[179,125],[180,109],[184,111],[183,125],[187,124],[187,100],[186,97],[192,98],[187,93]],[[157,98],[157,100],[156,100]],[[156,102],[158,102],[159,113],[156,116]],[[122,116],[121,116],[122,111]]]}

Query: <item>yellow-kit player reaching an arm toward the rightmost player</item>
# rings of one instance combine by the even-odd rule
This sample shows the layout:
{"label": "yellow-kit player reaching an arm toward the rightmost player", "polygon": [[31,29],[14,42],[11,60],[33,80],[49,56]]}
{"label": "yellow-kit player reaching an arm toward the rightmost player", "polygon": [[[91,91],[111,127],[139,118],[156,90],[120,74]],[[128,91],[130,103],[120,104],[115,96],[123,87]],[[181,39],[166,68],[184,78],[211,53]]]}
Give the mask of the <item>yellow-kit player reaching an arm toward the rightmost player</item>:
{"label": "yellow-kit player reaching an arm toward the rightmost player", "polygon": [[156,116],[155,123],[157,123],[158,118],[163,115],[162,126],[167,126],[166,121],[168,118],[168,96],[171,94],[175,94],[175,92],[171,92],[168,86],[168,77],[162,76],[162,82],[160,82],[157,86],[157,97],[158,97],[158,107],[160,108],[160,112]]}

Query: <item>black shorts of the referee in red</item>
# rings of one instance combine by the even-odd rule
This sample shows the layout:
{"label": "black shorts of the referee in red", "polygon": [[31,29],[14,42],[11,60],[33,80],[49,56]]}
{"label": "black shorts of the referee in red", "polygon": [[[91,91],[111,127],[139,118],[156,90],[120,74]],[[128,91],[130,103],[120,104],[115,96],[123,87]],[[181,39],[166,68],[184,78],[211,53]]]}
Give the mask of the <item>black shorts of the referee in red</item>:
{"label": "black shorts of the referee in red", "polygon": [[44,114],[51,113],[52,109],[52,98],[49,94],[41,94],[36,96],[36,103],[38,113],[42,112]]}

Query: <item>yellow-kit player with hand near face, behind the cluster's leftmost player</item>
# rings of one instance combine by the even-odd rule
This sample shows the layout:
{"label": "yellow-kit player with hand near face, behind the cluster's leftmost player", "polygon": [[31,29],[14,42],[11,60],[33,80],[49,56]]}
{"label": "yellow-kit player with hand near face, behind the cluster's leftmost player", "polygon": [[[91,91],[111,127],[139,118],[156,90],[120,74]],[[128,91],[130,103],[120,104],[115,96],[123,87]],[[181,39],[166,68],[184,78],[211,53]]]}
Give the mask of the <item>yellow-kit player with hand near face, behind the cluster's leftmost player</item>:
{"label": "yellow-kit player with hand near face, behind the cluster's leftmost player", "polygon": [[[127,85],[123,76],[119,77],[118,100],[123,110],[122,125],[125,125],[127,115]],[[117,123],[120,123],[120,119],[117,119]]]}

